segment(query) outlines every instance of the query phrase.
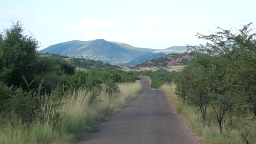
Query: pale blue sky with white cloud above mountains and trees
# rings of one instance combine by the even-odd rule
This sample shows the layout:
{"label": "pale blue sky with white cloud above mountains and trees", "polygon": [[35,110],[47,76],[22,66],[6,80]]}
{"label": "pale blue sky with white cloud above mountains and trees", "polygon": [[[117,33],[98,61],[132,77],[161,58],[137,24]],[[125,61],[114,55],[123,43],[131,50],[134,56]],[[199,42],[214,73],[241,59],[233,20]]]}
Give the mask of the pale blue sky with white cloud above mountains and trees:
{"label": "pale blue sky with white cloud above mountains and trees", "polygon": [[217,27],[256,27],[256,0],[0,0],[0,29],[20,21],[38,50],[70,40],[105,39],[166,49],[205,41]]}

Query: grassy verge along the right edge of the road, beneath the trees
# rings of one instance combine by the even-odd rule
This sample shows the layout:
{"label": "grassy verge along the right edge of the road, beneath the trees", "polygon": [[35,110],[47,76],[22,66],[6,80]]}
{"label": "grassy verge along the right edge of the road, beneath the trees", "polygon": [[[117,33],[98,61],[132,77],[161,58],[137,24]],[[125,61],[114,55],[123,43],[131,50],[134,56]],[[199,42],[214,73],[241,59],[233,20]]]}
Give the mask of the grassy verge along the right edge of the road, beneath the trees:
{"label": "grassy verge along the right edge of the road, beneath the trees", "polygon": [[[202,141],[207,143],[256,143],[256,129],[248,125],[253,125],[252,121],[243,117],[233,117],[232,125],[229,117],[225,117],[223,134],[220,134],[216,117],[211,109],[207,111],[207,120],[204,122],[199,111],[195,107],[183,104],[175,94],[175,85],[162,85],[160,89],[170,97],[176,105],[178,113],[185,116],[193,130]],[[248,125],[245,125],[248,124]]]}

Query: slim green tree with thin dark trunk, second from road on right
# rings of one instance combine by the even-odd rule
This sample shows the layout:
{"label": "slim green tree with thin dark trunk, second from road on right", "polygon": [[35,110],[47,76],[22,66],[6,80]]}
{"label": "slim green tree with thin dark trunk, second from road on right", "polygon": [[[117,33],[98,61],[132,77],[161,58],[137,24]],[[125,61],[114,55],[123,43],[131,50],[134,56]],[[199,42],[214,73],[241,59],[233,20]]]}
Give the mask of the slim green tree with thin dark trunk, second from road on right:
{"label": "slim green tree with thin dark trunk, second from road on right", "polygon": [[[216,114],[220,132],[222,133],[222,122],[224,116],[232,110],[238,101],[239,95],[234,91],[234,87],[229,80],[227,64],[222,58],[214,59],[212,63],[212,85],[211,85],[211,105]],[[231,123],[231,121],[230,121]]]}

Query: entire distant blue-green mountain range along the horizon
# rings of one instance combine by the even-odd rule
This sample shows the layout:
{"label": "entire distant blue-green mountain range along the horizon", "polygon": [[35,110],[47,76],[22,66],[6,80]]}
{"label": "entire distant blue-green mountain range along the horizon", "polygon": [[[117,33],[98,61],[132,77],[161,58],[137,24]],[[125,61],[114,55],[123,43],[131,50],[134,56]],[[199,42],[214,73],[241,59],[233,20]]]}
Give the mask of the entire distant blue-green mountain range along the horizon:
{"label": "entire distant blue-green mountain range along the horizon", "polygon": [[116,65],[136,65],[159,58],[169,53],[183,53],[187,51],[185,46],[172,46],[164,50],[148,49],[131,46],[115,41],[96,39],[90,41],[67,41],[51,45],[39,53],[57,54],[74,58],[93,59],[104,63]]}

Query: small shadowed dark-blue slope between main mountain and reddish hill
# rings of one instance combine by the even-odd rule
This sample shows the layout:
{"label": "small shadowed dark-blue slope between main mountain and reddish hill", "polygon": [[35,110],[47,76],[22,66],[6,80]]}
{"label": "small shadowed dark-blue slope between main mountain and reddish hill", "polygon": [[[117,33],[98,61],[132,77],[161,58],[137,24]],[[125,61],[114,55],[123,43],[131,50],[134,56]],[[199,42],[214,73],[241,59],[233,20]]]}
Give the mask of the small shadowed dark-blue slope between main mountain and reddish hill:
{"label": "small shadowed dark-blue slope between main mountain and reddish hill", "polygon": [[139,63],[142,63],[142,62],[147,62],[147,61],[150,61],[151,59],[154,59],[154,58],[159,58],[159,57],[164,57],[166,56],[165,53],[149,53],[147,55],[143,55],[143,56],[139,56],[135,59],[133,59],[132,61],[128,62],[128,63],[125,63],[125,64],[122,64],[122,65],[136,65],[136,64],[139,64]]}

